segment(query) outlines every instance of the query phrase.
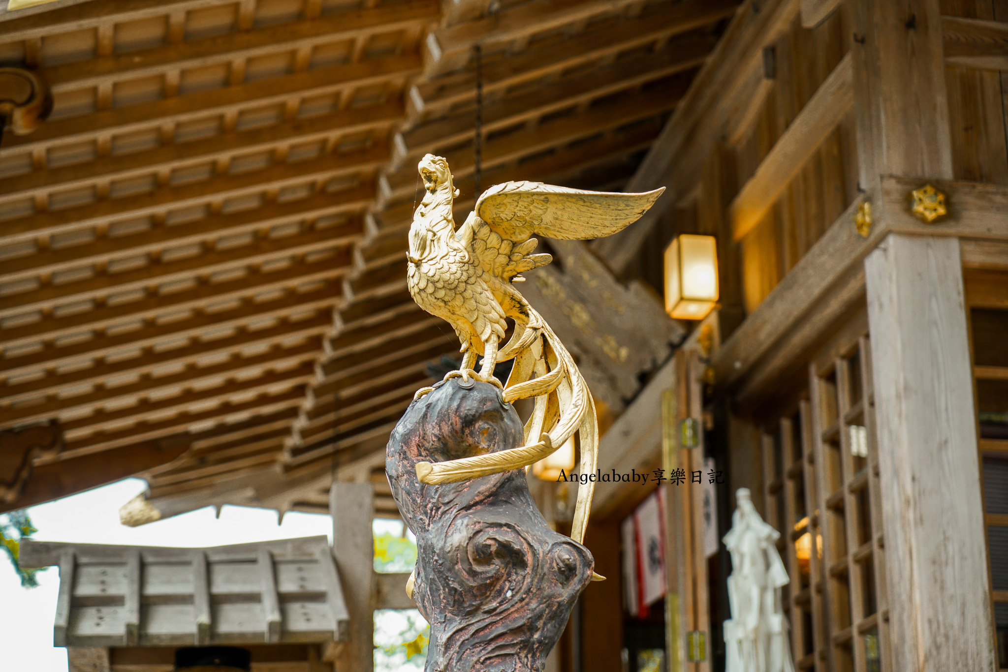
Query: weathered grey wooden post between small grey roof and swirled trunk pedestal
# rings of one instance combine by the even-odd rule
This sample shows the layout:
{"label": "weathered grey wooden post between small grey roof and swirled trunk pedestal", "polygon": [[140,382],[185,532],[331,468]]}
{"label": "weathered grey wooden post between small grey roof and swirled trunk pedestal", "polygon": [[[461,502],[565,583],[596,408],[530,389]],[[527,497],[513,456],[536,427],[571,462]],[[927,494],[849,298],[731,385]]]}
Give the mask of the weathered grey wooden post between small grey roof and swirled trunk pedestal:
{"label": "weathered grey wooden post between small grey roof and swirled trunk pedestal", "polygon": [[333,484],[329,493],[333,516],[333,556],[350,612],[350,641],[340,647],[336,672],[374,670],[374,486]]}

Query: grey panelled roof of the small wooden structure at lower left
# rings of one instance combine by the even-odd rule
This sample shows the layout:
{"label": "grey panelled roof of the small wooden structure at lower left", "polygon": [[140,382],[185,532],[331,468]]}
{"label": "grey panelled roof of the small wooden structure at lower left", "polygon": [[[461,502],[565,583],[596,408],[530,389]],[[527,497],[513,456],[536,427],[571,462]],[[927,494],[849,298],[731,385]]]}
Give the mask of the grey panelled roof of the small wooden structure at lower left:
{"label": "grey panelled roof of the small wooden structure at lower left", "polygon": [[195,549],[26,541],[21,560],[59,567],[56,646],[325,644],[349,633],[325,537]]}

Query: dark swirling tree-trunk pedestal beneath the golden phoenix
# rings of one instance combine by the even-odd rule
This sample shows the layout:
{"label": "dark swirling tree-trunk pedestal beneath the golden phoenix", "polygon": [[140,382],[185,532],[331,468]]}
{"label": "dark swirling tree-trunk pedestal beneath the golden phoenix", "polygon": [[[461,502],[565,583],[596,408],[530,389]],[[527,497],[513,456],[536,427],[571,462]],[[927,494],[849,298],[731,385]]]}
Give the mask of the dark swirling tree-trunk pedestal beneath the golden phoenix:
{"label": "dark swirling tree-trunk pedestal beneath the golden phoenix", "polygon": [[430,623],[426,672],[540,672],[588,585],[587,548],[549,529],[521,468],[426,485],[416,463],[522,444],[501,391],[451,379],[414,401],[388,443],[392,495],[416,534],[413,598]]}

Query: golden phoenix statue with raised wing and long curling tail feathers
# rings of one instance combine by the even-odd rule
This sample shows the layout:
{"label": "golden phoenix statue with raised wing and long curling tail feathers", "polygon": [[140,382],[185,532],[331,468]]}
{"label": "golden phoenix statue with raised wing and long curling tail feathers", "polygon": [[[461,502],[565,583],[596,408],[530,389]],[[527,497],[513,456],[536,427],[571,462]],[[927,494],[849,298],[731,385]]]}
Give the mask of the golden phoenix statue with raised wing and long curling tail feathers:
{"label": "golden phoenix statue with raised wing and long curling tail feathers", "polygon": [[[417,166],[426,193],[409,228],[406,281],[421,308],[446,319],[462,342],[462,365],[446,379],[473,378],[501,387],[504,401],[535,397],[524,445],[444,462],[422,461],[425,484],[456,483],[526,466],[581,438],[581,469],[594,474],[599,427],[592,394],[574,358],[541,315],[518,292],[521,273],[548,264],[531,254],[534,235],[564,240],[610,236],[636,222],[664,188],[646,193],[584,191],[539,182],[496,184],[476,201],[457,230],[452,207],[459,195],[448,161],[427,154]],[[514,332],[503,348],[508,327]],[[479,372],[473,367],[483,356]],[[498,362],[514,360],[507,383],[494,378]],[[417,398],[433,388],[423,388]],[[529,442],[531,441],[531,442]],[[578,490],[571,537],[585,537],[594,483]]]}

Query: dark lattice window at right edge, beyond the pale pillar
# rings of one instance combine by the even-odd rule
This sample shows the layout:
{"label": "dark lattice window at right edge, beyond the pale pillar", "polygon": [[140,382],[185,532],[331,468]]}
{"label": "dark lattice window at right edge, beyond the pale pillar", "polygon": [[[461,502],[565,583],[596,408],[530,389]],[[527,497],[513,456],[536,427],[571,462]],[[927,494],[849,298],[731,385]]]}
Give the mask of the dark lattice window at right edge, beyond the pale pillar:
{"label": "dark lattice window at right edge, beyond the pale pillar", "polygon": [[1008,670],[1008,274],[967,276],[998,667]]}

